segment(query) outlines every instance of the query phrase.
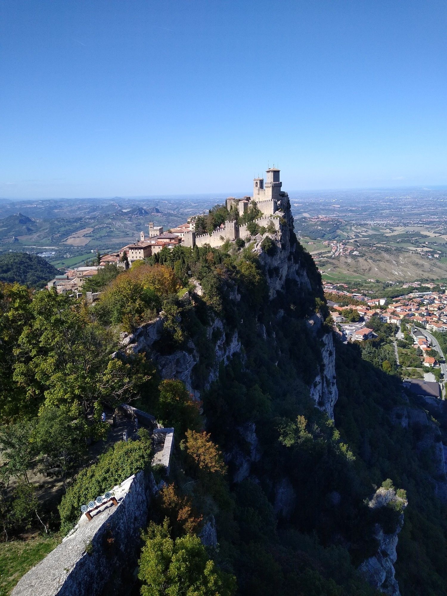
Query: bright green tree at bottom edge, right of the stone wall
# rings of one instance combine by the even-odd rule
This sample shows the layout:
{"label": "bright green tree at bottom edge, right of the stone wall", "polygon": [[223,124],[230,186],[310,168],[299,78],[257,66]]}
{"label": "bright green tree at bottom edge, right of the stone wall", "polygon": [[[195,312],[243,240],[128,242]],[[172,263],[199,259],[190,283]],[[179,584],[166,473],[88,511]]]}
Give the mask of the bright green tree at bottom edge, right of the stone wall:
{"label": "bright green tree at bottom edge, right of the stone wall", "polygon": [[170,537],[167,520],[163,526],[151,523],[144,536],[138,577],[142,596],[232,596],[234,576],[222,572],[200,538],[188,534]]}

